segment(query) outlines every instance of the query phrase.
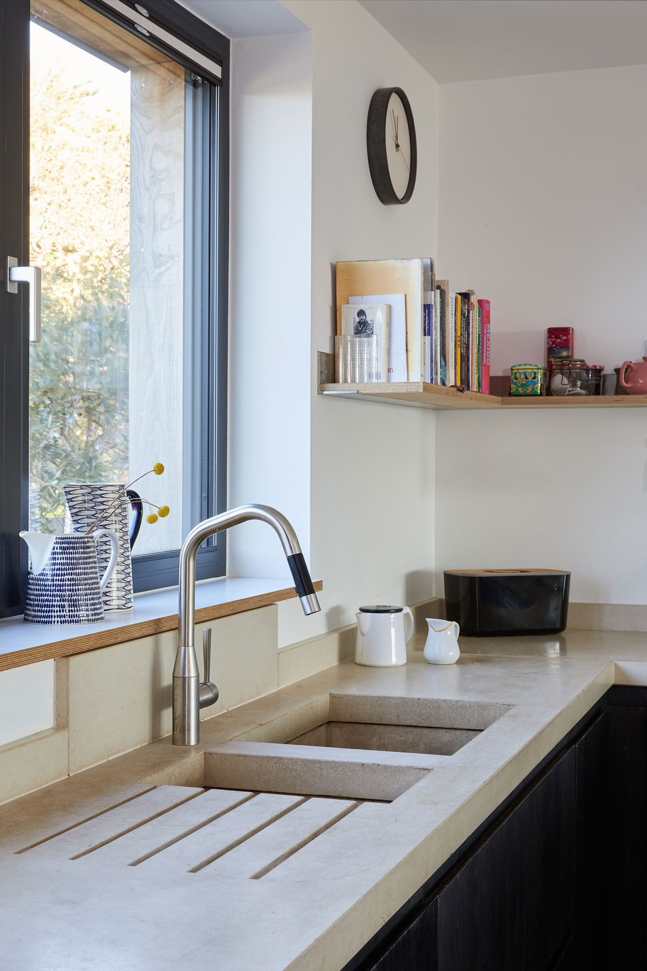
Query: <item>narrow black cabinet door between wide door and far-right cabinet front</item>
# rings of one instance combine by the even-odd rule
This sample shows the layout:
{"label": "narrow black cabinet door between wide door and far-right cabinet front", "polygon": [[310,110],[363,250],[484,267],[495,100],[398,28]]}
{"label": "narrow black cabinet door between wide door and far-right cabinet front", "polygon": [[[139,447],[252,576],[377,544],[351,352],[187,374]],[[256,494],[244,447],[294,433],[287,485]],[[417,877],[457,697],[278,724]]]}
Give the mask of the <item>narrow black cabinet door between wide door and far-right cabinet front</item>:
{"label": "narrow black cabinet door between wide door and far-right cabinet front", "polygon": [[607,967],[609,713],[575,746],[575,921],[573,959],[582,971]]}

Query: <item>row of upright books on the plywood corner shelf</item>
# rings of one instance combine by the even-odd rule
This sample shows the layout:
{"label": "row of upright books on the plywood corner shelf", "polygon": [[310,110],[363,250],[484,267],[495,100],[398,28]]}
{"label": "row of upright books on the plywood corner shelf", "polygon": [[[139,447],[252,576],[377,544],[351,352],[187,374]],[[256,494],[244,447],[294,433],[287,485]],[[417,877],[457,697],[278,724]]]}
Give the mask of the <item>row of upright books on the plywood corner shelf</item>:
{"label": "row of upright books on the plywood corner shelf", "polygon": [[373,380],[490,392],[489,300],[450,290],[447,280],[436,280],[430,258],[344,260],[336,267],[337,346],[375,338]]}

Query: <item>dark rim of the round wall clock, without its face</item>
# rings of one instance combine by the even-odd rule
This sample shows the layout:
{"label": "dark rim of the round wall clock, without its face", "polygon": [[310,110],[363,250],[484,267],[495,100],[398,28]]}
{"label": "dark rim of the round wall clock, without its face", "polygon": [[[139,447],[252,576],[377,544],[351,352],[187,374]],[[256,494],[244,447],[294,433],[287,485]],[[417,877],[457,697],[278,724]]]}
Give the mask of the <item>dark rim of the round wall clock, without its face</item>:
{"label": "dark rim of the round wall clock, without its face", "polygon": [[[409,126],[409,141],[411,146],[409,182],[406,192],[401,199],[396,195],[395,189],[393,188],[387,159],[386,123],[389,101],[392,94],[397,94],[402,102],[407,125]],[[416,142],[416,127],[411,105],[401,87],[378,87],[373,92],[371,103],[368,107],[368,117],[366,119],[366,153],[368,155],[368,168],[371,174],[371,181],[380,202],[385,206],[402,206],[408,202],[413,195],[416,185],[418,145]]]}

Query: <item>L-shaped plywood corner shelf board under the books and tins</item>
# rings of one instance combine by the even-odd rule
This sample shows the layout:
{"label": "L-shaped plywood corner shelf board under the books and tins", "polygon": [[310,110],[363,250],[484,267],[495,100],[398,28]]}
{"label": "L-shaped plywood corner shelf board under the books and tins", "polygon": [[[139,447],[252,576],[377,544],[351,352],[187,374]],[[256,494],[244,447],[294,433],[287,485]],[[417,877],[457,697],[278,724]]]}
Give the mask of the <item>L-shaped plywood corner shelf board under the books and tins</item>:
{"label": "L-shaped plywood corner shelf board under the books and tins", "polygon": [[503,398],[495,394],[481,394],[478,391],[459,391],[456,387],[426,385],[422,381],[389,385],[321,384],[320,392],[335,397],[433,409],[644,408],[647,406],[647,394]]}

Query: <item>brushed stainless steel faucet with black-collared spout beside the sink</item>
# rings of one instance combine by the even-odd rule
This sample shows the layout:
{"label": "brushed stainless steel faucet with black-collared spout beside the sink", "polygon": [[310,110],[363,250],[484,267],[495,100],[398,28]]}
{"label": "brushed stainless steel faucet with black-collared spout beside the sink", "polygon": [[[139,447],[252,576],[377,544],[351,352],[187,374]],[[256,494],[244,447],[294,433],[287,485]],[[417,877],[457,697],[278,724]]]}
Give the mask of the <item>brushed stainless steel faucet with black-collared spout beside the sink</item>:
{"label": "brushed stainless steel faucet with black-collared spout beside the sink", "polygon": [[173,745],[197,745],[200,741],[200,709],[215,705],[218,688],[209,680],[211,667],[211,628],[203,631],[204,677],[200,683],[195,656],[195,556],[210,536],[248,519],[260,519],[277,533],[288,557],[294,589],[304,614],[321,610],[315,587],[301,552],[296,533],[288,519],[270,506],[239,506],[220,516],[199,522],[191,529],[180,553],[180,604],[178,610],[178,653],[173,668]]}

